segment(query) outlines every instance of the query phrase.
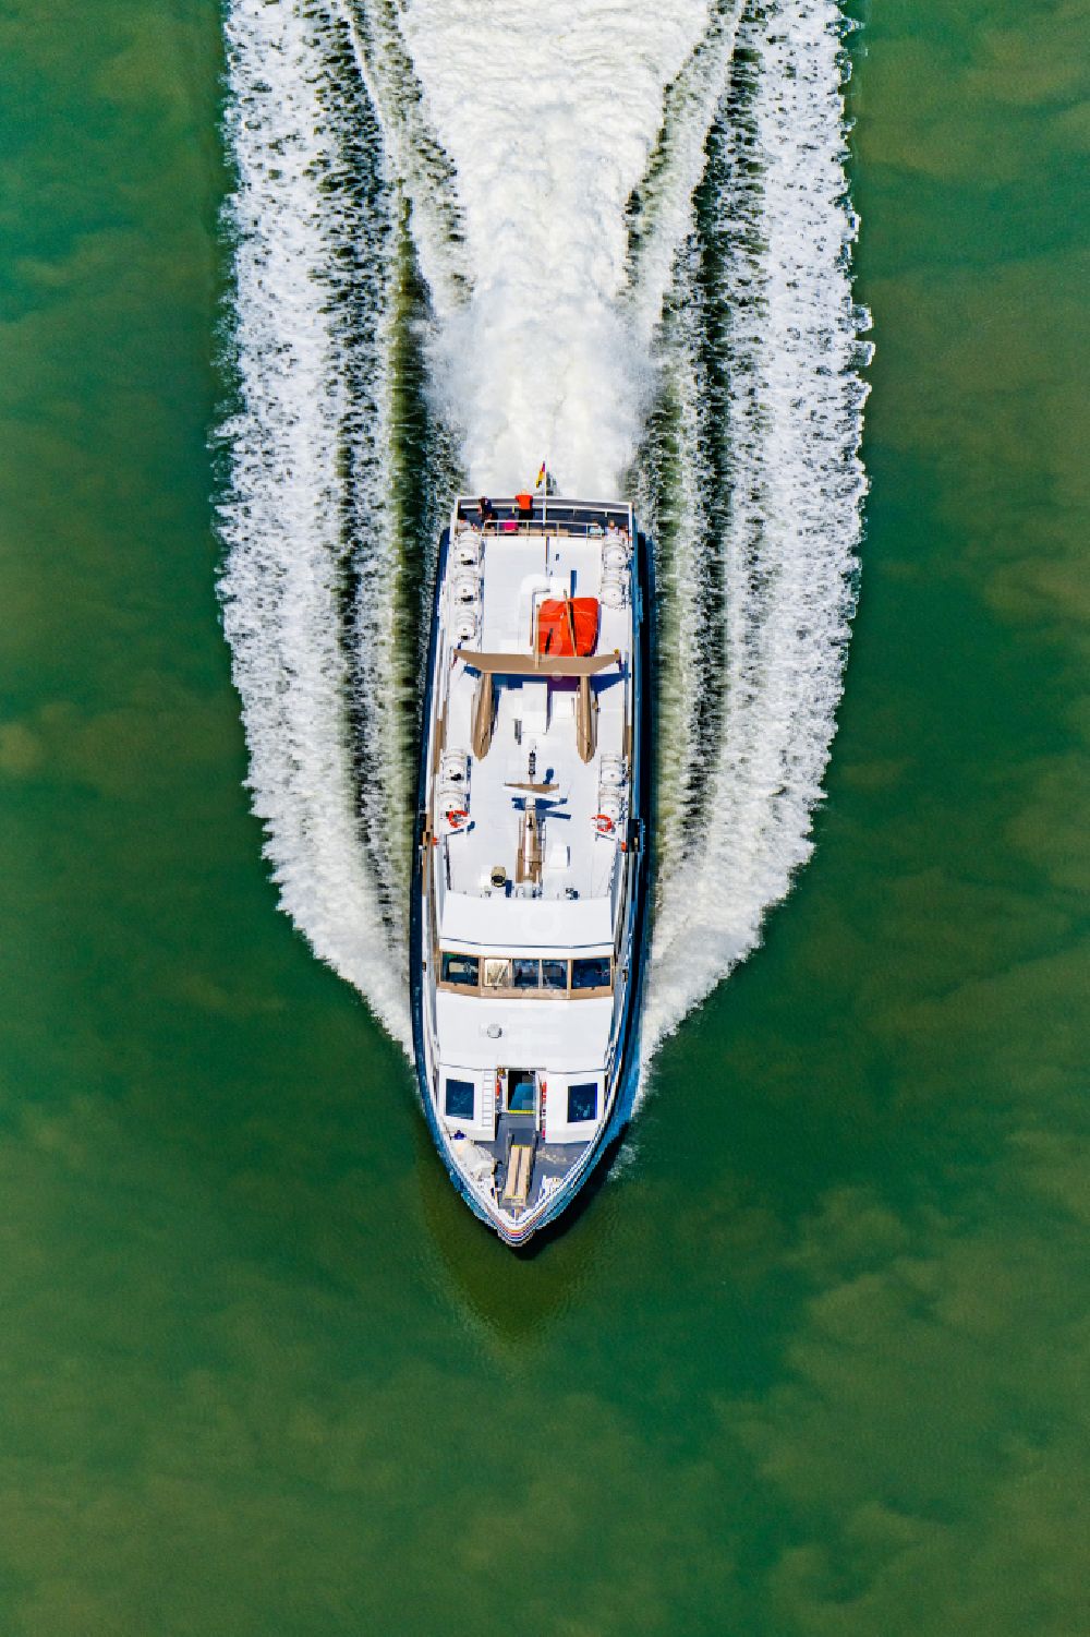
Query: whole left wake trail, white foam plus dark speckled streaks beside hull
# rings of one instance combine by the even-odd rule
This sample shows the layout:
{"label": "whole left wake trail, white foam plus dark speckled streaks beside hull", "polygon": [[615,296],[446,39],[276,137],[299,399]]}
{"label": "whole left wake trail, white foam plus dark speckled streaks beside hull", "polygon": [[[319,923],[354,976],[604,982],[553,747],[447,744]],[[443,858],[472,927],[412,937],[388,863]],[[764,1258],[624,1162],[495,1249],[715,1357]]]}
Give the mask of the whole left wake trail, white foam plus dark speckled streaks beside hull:
{"label": "whole left wake trail, white foam plus dark speckled streaks beside hull", "polygon": [[226,36],[237,403],[221,594],[249,786],[283,909],[408,1043],[409,840],[390,818],[412,804],[403,206],[344,18],[236,0]]}

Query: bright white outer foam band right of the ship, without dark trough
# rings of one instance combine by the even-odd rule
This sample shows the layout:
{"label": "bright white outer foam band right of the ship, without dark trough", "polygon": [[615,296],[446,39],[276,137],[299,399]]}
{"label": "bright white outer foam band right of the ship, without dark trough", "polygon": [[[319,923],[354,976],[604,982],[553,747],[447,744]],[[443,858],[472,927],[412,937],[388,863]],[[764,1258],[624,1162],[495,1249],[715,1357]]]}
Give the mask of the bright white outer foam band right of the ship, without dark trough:
{"label": "bright white outer foam band right of the ship, without dark trough", "polygon": [[[722,725],[689,746],[696,841],[663,859],[648,1046],[759,938],[808,858],[841,692],[864,475],[864,362],[848,247],[838,10],[779,0],[743,25],[751,131],[720,200],[730,473]],[[684,601],[682,601],[684,614]],[[700,663],[689,686],[699,688]]]}

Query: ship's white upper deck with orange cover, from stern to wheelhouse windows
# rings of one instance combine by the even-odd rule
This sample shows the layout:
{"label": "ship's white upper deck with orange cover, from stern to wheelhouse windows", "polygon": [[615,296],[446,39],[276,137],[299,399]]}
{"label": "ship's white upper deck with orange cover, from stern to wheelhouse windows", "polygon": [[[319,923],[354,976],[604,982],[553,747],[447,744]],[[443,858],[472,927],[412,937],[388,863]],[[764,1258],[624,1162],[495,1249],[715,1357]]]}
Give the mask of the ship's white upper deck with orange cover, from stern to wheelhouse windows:
{"label": "ship's white upper deck with orange cover, from stern to wheelhouse windows", "polygon": [[609,948],[628,820],[632,512],[494,511],[480,527],[458,503],[439,594],[437,931],[444,946]]}

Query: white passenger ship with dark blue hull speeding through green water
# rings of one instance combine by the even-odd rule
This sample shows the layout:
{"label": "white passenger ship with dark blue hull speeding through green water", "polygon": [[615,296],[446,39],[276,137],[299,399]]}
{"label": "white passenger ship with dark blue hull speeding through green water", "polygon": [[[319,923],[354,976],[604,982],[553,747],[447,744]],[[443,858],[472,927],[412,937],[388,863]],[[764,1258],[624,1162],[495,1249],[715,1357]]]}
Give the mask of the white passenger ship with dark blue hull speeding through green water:
{"label": "white passenger ship with dark blue hull speeding through green water", "polygon": [[463,496],[440,540],[412,1036],[450,1177],[511,1246],[571,1203],[632,1112],[650,576],[620,503]]}

